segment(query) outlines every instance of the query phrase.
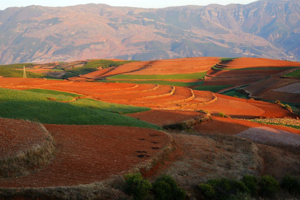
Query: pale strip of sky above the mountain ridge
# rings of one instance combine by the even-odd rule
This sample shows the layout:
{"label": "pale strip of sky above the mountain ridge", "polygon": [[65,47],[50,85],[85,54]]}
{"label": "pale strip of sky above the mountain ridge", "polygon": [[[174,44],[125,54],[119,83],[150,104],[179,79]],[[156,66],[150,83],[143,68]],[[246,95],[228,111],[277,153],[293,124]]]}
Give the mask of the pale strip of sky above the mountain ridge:
{"label": "pale strip of sky above the mountain ridge", "polygon": [[42,5],[42,6],[69,6],[88,3],[103,3],[112,6],[130,6],[142,8],[164,8],[169,6],[181,5],[208,5],[221,4],[227,5],[230,3],[248,4],[255,0],[0,0],[0,10],[8,7],[21,7],[28,5]]}

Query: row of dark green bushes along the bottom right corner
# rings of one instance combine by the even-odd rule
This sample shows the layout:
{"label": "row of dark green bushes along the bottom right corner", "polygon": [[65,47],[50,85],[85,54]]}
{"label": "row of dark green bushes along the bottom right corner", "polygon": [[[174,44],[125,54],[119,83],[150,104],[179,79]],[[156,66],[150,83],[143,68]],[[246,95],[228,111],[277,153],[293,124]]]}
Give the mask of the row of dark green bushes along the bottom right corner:
{"label": "row of dark green bushes along the bottom right corner", "polygon": [[206,199],[274,198],[283,190],[290,195],[300,194],[300,180],[287,175],[281,180],[280,188],[279,182],[270,175],[257,178],[246,174],[241,180],[210,179],[206,183],[198,184],[198,189]]}

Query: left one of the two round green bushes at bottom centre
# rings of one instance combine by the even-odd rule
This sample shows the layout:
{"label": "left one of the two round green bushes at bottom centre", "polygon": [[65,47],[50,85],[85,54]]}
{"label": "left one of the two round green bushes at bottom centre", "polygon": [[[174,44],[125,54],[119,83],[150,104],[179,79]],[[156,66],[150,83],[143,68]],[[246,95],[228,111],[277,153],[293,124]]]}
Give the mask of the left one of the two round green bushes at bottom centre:
{"label": "left one of the two round green bushes at bottom centre", "polygon": [[152,185],[149,181],[144,180],[140,173],[125,174],[124,192],[133,195],[134,199],[144,199],[149,196]]}

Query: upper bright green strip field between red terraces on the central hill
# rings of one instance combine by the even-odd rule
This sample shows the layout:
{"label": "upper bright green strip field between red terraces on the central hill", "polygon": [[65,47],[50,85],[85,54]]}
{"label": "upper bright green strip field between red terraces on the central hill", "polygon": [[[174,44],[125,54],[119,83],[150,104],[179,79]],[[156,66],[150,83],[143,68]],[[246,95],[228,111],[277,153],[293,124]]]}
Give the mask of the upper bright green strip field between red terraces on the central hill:
{"label": "upper bright green strip field between red terraces on the central hill", "polygon": [[135,75],[135,74],[117,74],[107,79],[204,79],[206,71],[192,74],[159,74],[159,75]]}

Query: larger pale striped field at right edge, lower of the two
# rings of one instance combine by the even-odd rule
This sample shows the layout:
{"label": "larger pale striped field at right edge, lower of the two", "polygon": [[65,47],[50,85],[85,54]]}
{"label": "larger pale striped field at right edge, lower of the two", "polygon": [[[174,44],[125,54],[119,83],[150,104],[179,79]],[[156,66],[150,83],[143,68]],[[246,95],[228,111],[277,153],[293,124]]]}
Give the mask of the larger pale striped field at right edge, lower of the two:
{"label": "larger pale striped field at right edge, lower of the two", "polygon": [[300,146],[300,135],[269,127],[254,127],[235,134],[263,144]]}

